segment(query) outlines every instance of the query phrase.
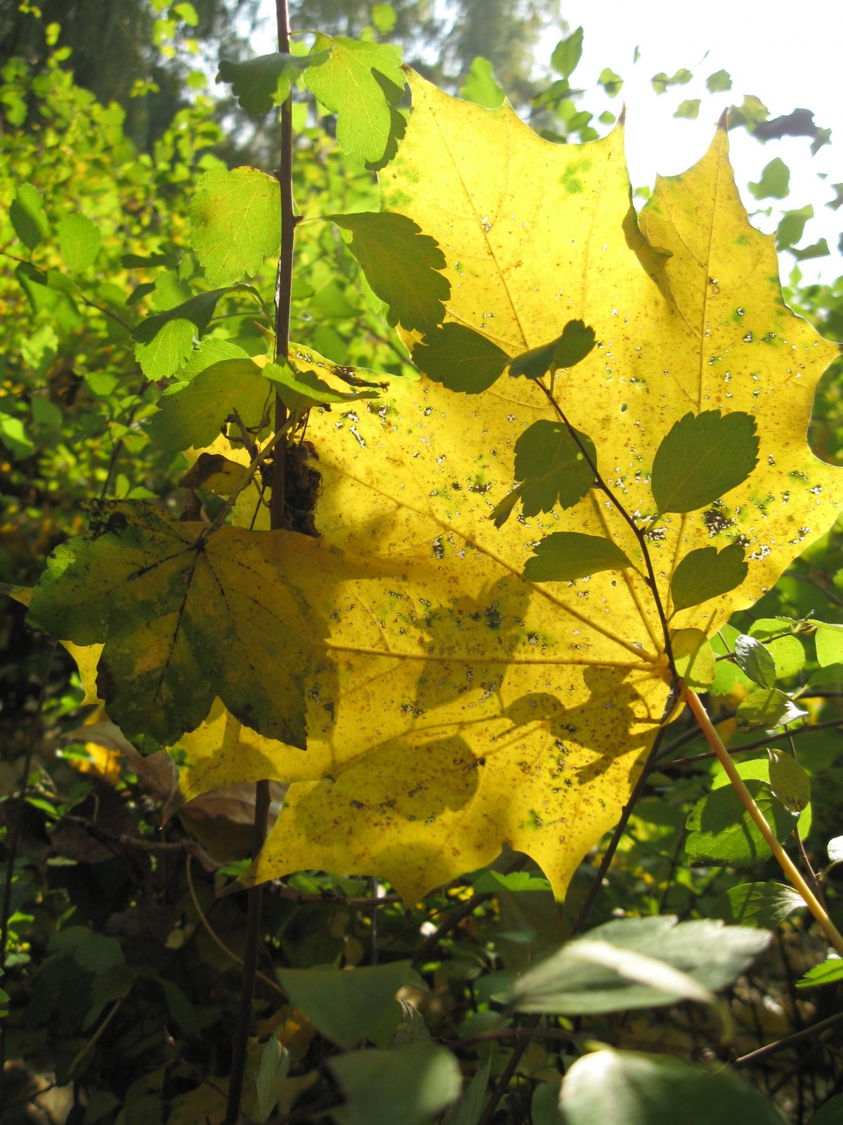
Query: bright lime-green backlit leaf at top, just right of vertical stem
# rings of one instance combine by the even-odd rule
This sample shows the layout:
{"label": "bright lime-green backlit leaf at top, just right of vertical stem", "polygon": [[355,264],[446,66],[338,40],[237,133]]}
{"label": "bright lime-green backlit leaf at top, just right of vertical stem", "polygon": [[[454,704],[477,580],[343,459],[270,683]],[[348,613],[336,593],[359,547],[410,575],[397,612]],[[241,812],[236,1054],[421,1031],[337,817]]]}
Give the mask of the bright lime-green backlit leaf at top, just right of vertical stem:
{"label": "bright lime-green backlit leaf at top, just right of vertical stem", "polygon": [[330,57],[305,72],[305,86],[337,115],[336,137],[352,160],[377,164],[402,133],[400,55],[387,44],[317,34],[310,57],[325,51]]}

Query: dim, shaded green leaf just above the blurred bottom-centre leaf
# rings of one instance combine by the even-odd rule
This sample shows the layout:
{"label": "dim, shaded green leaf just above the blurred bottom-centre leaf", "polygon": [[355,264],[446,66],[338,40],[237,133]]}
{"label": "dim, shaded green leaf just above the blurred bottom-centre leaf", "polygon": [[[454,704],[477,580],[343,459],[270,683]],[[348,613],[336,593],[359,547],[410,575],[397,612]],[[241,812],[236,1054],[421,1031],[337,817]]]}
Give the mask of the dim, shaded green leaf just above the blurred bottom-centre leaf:
{"label": "dim, shaded green leaf just above the blurred bottom-centre leaf", "polygon": [[344,1051],[395,1016],[401,1018],[396,992],[404,984],[423,986],[409,961],[363,969],[278,969],[281,988],[310,1023]]}

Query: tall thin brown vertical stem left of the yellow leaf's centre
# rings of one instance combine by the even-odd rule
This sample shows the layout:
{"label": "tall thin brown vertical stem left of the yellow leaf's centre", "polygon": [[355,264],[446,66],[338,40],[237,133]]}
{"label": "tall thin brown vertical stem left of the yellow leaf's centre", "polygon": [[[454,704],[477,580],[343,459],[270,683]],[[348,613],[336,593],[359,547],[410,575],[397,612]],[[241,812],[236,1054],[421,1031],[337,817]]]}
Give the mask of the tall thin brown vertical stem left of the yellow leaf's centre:
{"label": "tall thin brown vertical stem left of the yellow leaf's centre", "polygon": [[[287,0],[275,0],[278,19],[278,50],[290,53],[290,11]],[[292,294],[292,255],[296,215],[292,206],[292,101],[288,97],[281,107],[281,165],[278,172],[281,188],[281,254],[275,281],[275,357],[287,358],[290,345],[290,298]],[[278,434],[287,422],[287,407],[275,395],[275,425]],[[278,531],[283,525],[284,482],[287,478],[287,442],[279,441],[272,458],[272,493],[270,496],[270,528]],[[263,847],[270,809],[270,783],[255,785],[255,819],[252,835],[252,855]],[[237,1028],[232,1047],[232,1074],[228,1081],[228,1105],[225,1125],[236,1125],[243,1095],[243,1076],[246,1066],[248,1029],[252,1023],[252,998],[257,969],[257,947],[261,933],[261,901],[263,886],[248,889],[246,911],[246,948],[243,957],[243,986]]]}

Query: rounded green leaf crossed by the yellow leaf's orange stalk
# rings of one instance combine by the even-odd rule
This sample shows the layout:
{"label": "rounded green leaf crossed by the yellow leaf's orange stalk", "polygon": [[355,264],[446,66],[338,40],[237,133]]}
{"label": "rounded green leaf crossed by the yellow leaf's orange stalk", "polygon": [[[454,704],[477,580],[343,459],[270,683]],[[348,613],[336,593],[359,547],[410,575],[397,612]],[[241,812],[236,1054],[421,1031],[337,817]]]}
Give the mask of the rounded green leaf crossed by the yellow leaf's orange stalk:
{"label": "rounded green leaf crossed by the yellow leaf's orange stalk", "polygon": [[[799,819],[778,800],[764,781],[750,780],[746,789],[773,835],[782,843]],[[688,817],[685,850],[692,864],[751,867],[772,853],[755,822],[731,785],[722,785],[700,798]]]}

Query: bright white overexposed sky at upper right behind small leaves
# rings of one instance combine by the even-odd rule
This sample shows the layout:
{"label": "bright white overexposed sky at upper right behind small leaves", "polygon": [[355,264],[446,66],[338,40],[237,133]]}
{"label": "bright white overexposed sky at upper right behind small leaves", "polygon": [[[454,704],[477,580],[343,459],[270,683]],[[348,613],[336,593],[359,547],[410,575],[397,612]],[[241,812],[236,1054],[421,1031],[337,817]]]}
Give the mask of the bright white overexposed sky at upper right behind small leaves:
{"label": "bright white overexposed sky at upper right behind small leaves", "polygon": [[[373,0],[374,2],[374,0]],[[273,50],[274,4],[263,0],[265,39],[256,48]],[[760,144],[744,129],[731,135],[732,162],[749,212],[773,208],[770,216],[756,215],[761,230],[774,231],[782,210],[812,204],[815,218],[805,228],[801,245],[825,237],[831,256],[801,263],[806,281],[832,281],[843,274],[837,249],[843,228],[843,207],[834,212],[826,204],[834,198],[832,183],[843,182],[843,2],[841,0],[563,0],[562,11],[573,30],[584,28],[583,53],[572,75],[572,84],[588,90],[582,99],[598,116],[604,109],[617,114],[627,106],[626,146],[634,187],[652,186],[656,172],[682,172],[706,151],[717,118],[729,105],[741,105],[744,94],[755,94],[771,117],[796,108],[814,112],[821,128],[832,129],[832,144],[810,155],[807,137],[786,137]],[[547,64],[559,39],[549,33],[537,51],[537,62]],[[633,65],[633,53],[641,57]],[[620,94],[609,100],[597,87],[604,66],[624,79]],[[668,88],[656,96],[650,79],[680,68],[694,73],[687,86]],[[726,70],[733,88],[711,94],[705,81],[715,71]],[[596,91],[596,92],[595,92]],[[697,120],[672,115],[685,99],[701,98]],[[755,200],[745,189],[758,181],[774,156],[790,169],[790,195],[782,200]],[[817,173],[827,173],[822,180]],[[786,279],[794,259],[781,255]]]}

